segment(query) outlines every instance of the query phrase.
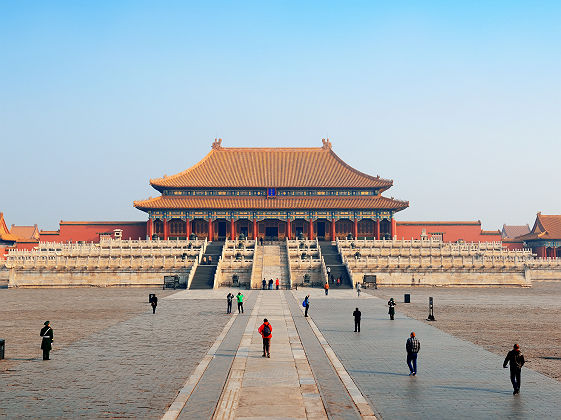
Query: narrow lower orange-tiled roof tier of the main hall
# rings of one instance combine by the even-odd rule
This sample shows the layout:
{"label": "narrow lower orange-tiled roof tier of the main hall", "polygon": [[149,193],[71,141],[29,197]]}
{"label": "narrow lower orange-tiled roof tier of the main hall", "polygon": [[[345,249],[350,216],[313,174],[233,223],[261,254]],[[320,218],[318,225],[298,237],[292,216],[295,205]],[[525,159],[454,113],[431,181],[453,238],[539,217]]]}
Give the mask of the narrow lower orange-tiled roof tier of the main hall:
{"label": "narrow lower orange-tiled roof tier of the main hall", "polygon": [[354,210],[377,209],[399,211],[409,207],[408,201],[382,196],[365,197],[173,197],[160,196],[135,201],[139,210],[155,209],[228,209],[228,210]]}

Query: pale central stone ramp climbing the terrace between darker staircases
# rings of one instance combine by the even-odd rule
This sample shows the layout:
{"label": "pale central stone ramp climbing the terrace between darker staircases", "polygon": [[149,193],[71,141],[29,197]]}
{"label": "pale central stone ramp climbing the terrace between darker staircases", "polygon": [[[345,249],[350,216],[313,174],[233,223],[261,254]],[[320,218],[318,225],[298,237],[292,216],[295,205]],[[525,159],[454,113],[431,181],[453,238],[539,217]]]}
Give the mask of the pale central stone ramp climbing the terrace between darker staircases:
{"label": "pale central stone ramp climbing the terrace between darker staircases", "polygon": [[255,253],[254,258],[252,287],[260,289],[263,278],[267,282],[269,279],[275,281],[278,278],[282,289],[290,289],[288,255],[284,243],[264,245],[258,248],[259,251]]}

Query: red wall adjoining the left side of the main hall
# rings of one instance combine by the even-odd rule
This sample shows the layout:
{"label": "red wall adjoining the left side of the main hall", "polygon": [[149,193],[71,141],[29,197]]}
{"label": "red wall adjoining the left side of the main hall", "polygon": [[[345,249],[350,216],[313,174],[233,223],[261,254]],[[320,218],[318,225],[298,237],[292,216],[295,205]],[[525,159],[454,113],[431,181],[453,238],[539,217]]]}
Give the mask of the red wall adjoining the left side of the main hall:
{"label": "red wall adjoining the left side of the main hall", "polygon": [[41,242],[99,242],[100,233],[123,230],[123,239],[146,239],[146,222],[60,222],[58,232],[40,232]]}

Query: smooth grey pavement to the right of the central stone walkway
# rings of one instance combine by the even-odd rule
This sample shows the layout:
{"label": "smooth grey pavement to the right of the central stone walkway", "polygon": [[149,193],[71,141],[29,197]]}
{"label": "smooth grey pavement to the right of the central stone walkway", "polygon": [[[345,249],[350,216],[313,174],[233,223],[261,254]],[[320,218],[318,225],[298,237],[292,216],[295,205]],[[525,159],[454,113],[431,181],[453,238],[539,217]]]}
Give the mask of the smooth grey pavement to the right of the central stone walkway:
{"label": "smooth grey pavement to the right of the central stone walkway", "polygon": [[[306,293],[295,292],[297,300]],[[503,357],[399,312],[392,322],[386,303],[352,291],[326,297],[311,290],[312,319],[383,418],[561,418],[561,383],[523,369],[521,393],[513,396]],[[357,306],[361,333],[353,332]],[[411,331],[421,341],[416,377],[408,376],[405,361]]]}

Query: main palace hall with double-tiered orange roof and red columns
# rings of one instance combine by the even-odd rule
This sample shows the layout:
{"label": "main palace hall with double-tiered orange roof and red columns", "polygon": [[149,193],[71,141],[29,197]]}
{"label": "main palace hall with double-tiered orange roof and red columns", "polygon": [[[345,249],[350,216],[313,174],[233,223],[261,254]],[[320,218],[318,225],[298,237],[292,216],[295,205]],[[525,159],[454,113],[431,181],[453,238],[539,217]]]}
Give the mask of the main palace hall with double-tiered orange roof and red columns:
{"label": "main palace hall with double-tiered orange roof and red columns", "polygon": [[409,202],[382,196],[393,181],[362,173],[332,150],[226,148],[218,139],[200,162],[150,180],[161,195],[135,201],[160,239],[380,239],[396,232]]}

